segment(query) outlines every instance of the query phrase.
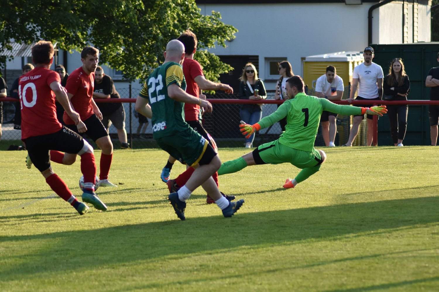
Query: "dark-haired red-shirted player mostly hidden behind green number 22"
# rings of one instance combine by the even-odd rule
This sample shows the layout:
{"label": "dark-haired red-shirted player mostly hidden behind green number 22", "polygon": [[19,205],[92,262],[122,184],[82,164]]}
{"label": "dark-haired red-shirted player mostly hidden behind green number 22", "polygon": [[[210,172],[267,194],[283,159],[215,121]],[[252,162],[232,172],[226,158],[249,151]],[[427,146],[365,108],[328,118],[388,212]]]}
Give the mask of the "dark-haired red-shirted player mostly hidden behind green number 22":
{"label": "dark-haired red-shirted player mostly hidden behind green number 22", "polygon": [[[200,94],[201,90],[223,90],[226,93],[232,94],[233,88],[231,88],[227,84],[216,83],[207,80],[204,77],[203,69],[196,60],[194,60],[194,54],[197,51],[197,36],[187,30],[182,35],[178,37],[178,40],[183,43],[185,49],[185,56],[183,62],[183,74],[186,79],[186,92],[192,96],[206,99],[205,95]],[[201,109],[198,104],[184,104],[184,116],[186,122],[191,126],[195,131],[197,131],[202,137],[204,137],[207,141],[209,141],[216,152],[218,152],[218,148],[216,147],[215,141],[213,138],[207,133],[201,123]],[[184,186],[187,180],[191,177],[194,172],[194,168],[189,167],[185,172],[180,174],[176,179],[169,179],[169,174],[171,172],[173,163],[175,162],[175,158],[169,156],[168,162],[165,167],[162,169],[161,179],[163,182],[168,184],[168,188],[170,192],[176,191],[180,186]],[[215,180],[216,185],[218,186],[218,173],[212,176]],[[225,196],[223,194],[223,196]],[[234,196],[225,196],[227,200],[234,200]],[[206,203],[212,204],[215,201],[209,196],[206,197]]]}

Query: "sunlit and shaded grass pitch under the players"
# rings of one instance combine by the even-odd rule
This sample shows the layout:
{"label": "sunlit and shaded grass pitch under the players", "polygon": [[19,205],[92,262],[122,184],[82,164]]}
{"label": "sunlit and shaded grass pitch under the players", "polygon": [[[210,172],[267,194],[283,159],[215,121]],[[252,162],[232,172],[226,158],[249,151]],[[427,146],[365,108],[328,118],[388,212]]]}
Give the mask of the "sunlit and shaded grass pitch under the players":
{"label": "sunlit and shaded grass pitch under the players", "polygon": [[[289,164],[220,176],[243,207],[223,218],[198,189],[184,222],[163,151],[116,150],[119,187],[97,190],[109,210],[83,216],[26,169],[25,151],[2,151],[0,291],[438,291],[438,148],[322,149],[327,162],[295,189],[282,188],[299,172]],[[79,161],[52,166],[80,199]]]}

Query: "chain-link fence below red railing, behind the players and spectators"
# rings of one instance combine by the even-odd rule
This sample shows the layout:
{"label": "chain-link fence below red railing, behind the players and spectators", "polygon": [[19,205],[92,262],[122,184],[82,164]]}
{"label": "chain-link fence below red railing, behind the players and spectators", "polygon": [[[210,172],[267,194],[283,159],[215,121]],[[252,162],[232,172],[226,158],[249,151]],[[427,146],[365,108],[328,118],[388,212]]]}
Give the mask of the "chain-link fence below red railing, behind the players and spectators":
{"label": "chain-link fence below red railing, behind the players and spectators", "polygon": [[[121,98],[131,98],[133,101],[139,94],[139,89],[135,88],[117,88]],[[347,98],[349,88],[345,88],[343,99]],[[309,95],[313,95],[312,89],[308,92]],[[216,93],[215,95],[206,94],[208,99],[238,99],[238,94],[227,95],[225,93]],[[274,91],[267,91],[267,99],[274,99]],[[213,112],[205,113],[203,116],[203,126],[209,132],[209,134],[215,139],[218,147],[244,147],[245,138],[239,131],[240,108],[241,104],[216,104],[213,103]],[[152,126],[151,120],[146,119],[134,110],[133,102],[122,103],[126,113],[126,132],[128,136],[128,142],[132,148],[157,148],[157,144],[152,139]],[[18,102],[4,102],[4,120],[3,120],[3,137],[2,141],[17,141],[20,140],[21,131],[14,130],[14,113],[15,106],[19,106]],[[264,104],[262,106],[262,116],[268,116],[277,109],[276,104]],[[147,121],[145,123],[145,121]],[[338,116],[337,118],[337,131],[338,134],[335,138],[336,145],[343,145],[349,138],[349,130],[351,125],[350,116]],[[357,136],[354,145],[366,144],[366,123],[363,123],[360,127],[360,132]],[[117,136],[117,131],[114,126],[109,128],[109,134],[114,144],[114,148],[120,147],[120,142]],[[279,123],[275,123],[273,126],[260,130],[255,134],[255,140],[253,147],[257,147],[259,144],[276,140],[281,134],[281,127]],[[90,143],[90,139],[87,139]],[[93,143],[92,143],[93,144]],[[324,146],[324,141],[321,135],[321,127],[316,138],[316,146]]]}

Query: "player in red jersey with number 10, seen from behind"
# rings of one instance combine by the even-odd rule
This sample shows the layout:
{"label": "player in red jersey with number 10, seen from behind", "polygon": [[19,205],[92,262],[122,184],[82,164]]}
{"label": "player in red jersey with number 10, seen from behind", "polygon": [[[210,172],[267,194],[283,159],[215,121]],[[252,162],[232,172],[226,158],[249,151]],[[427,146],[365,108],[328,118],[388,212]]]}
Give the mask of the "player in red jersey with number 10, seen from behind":
{"label": "player in red jersey with number 10, seen from behind", "polygon": [[96,164],[93,148],[78,134],[62,126],[56,117],[55,97],[78,129],[87,130],[79,114],[70,106],[59,74],[49,70],[53,55],[54,47],[51,42],[37,42],[32,47],[35,69],[19,79],[22,141],[28,149],[30,159],[43,174],[50,188],[83,215],[88,206],[79,202],[65,182],[53,172],[49,151],[54,149],[81,156],[81,172],[85,182],[82,199],[99,210],[107,210],[107,206],[94,193]]}

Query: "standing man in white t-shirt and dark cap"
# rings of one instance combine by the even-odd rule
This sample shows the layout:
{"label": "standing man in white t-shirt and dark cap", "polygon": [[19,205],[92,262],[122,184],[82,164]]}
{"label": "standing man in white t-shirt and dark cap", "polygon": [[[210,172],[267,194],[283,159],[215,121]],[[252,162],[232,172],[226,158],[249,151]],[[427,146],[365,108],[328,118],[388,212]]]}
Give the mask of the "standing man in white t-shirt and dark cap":
{"label": "standing man in white t-shirt and dark cap", "polygon": [[[355,91],[358,88],[358,95],[356,100],[381,100],[383,95],[383,69],[381,66],[372,62],[374,58],[374,49],[367,47],[363,52],[364,62],[354,68],[352,75],[352,86],[349,94],[348,102],[354,100]],[[355,105],[360,107],[370,107],[368,105]],[[372,145],[373,138],[373,116],[367,115],[367,146]],[[358,128],[361,121],[364,119],[364,115],[354,116],[351,133],[349,134],[348,142],[343,146],[352,146],[356,135],[358,134]]]}

